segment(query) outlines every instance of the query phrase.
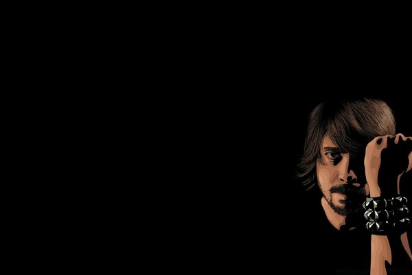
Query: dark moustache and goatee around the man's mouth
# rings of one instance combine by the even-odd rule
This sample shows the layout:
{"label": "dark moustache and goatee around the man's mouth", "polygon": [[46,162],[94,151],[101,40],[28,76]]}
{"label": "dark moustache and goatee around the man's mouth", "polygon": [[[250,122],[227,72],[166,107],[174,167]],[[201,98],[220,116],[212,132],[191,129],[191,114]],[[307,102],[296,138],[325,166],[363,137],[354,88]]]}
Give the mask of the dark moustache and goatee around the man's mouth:
{"label": "dark moustache and goatee around the man's mouth", "polygon": [[[365,188],[359,186],[352,186],[349,184],[342,184],[340,186],[333,186],[329,190],[330,197],[326,199],[330,207],[342,216],[347,216],[349,214],[356,214],[362,210],[362,203],[365,201],[366,191]],[[339,202],[343,206],[337,206],[332,201],[332,193],[339,193],[346,195],[346,199],[341,199]]]}

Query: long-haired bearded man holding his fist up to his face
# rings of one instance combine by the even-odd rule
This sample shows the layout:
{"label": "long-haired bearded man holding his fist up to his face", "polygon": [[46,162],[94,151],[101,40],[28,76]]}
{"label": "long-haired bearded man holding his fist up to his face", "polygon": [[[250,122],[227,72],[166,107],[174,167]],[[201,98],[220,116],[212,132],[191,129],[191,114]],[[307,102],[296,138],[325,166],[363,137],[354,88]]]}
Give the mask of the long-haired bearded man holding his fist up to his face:
{"label": "long-haired bearded man holding his fist up to his face", "polygon": [[[323,217],[335,230],[348,232],[340,235],[323,232],[323,236],[333,236],[330,241],[331,254],[339,254],[335,252],[334,245],[344,254],[336,258],[329,256],[325,262],[345,259],[344,263],[336,263],[335,266],[345,269],[359,263],[356,268],[363,269],[365,263],[370,261],[371,274],[385,274],[385,263],[402,269],[412,263],[404,228],[402,232],[391,228],[387,231],[386,228],[378,228],[377,232],[373,232],[376,228],[372,225],[381,221],[376,218],[378,215],[373,215],[374,210],[365,210],[363,206],[366,197],[396,197],[405,194],[412,185],[409,173],[412,168],[412,138],[396,135],[395,126],[391,109],[381,100],[325,102],[310,114],[304,157],[298,164],[298,177],[308,189],[319,186]],[[389,208],[378,210],[379,219],[382,219],[382,213],[387,213]],[[403,212],[401,214],[404,215]],[[407,221],[405,217],[400,218]],[[365,226],[369,224],[367,219],[371,220],[370,228]],[[376,223],[372,222],[374,219]],[[391,222],[392,219],[391,216]],[[352,231],[356,233],[352,234]],[[338,239],[345,240],[345,243],[339,243]],[[357,243],[352,243],[348,248],[352,240]],[[361,254],[354,253],[354,250]],[[356,257],[353,257],[355,254]],[[393,261],[392,255],[396,256]]]}

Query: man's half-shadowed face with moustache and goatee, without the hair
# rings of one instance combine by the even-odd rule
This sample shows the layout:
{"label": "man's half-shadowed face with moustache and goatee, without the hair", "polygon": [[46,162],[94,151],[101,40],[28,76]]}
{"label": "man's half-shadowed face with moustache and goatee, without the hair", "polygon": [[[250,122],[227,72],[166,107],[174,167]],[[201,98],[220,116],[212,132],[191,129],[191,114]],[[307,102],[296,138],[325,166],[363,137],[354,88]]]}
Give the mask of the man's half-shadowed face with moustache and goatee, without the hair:
{"label": "man's half-shadowed face with moustache and goatee, without the hair", "polygon": [[334,212],[348,215],[360,209],[369,189],[365,188],[363,156],[351,157],[336,146],[328,135],[321,144],[321,161],[317,162],[317,179],[323,197]]}

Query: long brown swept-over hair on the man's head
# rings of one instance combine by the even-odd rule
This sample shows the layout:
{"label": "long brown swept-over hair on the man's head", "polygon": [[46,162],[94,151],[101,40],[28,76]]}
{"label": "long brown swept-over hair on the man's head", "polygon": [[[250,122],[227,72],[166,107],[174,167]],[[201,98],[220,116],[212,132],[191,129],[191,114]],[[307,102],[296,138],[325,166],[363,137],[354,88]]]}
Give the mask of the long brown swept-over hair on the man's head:
{"label": "long brown swept-over hair on the man's head", "polygon": [[382,100],[322,102],[310,113],[297,177],[307,189],[317,184],[316,164],[321,159],[321,142],[326,134],[343,151],[356,156],[374,137],[395,135],[395,128],[391,108]]}

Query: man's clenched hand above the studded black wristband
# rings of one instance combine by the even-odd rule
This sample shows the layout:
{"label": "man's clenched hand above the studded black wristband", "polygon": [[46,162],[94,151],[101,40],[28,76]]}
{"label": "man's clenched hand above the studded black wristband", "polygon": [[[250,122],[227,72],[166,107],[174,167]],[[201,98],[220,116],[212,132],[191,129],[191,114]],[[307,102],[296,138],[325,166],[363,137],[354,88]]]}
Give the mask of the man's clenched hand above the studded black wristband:
{"label": "man's clenched hand above the studded black wristband", "polygon": [[399,193],[400,177],[412,168],[412,137],[375,137],[366,146],[365,176],[371,197]]}

